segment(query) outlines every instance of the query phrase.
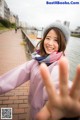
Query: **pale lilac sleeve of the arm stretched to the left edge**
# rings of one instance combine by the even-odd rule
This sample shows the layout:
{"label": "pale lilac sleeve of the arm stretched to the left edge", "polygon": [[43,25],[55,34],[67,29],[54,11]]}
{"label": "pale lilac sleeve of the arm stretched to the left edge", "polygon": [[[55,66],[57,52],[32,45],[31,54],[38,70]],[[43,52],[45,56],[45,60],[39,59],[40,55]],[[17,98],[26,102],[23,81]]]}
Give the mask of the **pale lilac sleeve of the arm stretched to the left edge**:
{"label": "pale lilac sleeve of the arm stretched to the left edge", "polygon": [[33,60],[26,62],[0,76],[0,94],[8,92],[30,80]]}

